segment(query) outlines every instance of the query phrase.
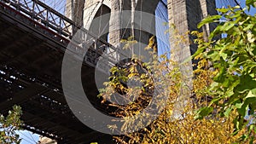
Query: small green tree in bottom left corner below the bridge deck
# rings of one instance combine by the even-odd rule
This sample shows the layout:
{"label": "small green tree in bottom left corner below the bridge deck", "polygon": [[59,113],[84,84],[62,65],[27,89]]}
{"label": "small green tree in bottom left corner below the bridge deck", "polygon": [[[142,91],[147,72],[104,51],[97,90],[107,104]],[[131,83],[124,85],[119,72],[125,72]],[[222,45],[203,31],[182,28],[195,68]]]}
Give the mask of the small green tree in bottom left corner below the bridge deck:
{"label": "small green tree in bottom left corner below the bridge deck", "polygon": [[15,130],[21,130],[21,113],[21,107],[14,106],[13,110],[9,111],[7,117],[4,117],[3,115],[0,116],[0,143],[20,143],[20,135],[17,135]]}

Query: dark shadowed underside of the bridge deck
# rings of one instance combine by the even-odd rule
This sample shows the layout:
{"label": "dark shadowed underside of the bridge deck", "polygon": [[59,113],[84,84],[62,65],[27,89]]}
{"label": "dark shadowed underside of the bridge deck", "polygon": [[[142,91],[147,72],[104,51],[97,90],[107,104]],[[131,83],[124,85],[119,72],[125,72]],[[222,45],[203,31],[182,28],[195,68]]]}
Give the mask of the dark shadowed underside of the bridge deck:
{"label": "dark shadowed underside of the bridge deck", "polygon": [[[60,143],[109,143],[110,135],[90,130],[67,106],[61,91],[61,61],[67,45],[47,37],[47,33],[54,32],[44,29],[44,34],[38,33],[34,27],[4,14],[3,6],[0,8],[0,112],[7,113],[13,105],[20,105],[26,130]],[[35,25],[40,27],[32,23]],[[92,77],[94,68],[83,66],[82,71],[87,95],[100,103]]]}

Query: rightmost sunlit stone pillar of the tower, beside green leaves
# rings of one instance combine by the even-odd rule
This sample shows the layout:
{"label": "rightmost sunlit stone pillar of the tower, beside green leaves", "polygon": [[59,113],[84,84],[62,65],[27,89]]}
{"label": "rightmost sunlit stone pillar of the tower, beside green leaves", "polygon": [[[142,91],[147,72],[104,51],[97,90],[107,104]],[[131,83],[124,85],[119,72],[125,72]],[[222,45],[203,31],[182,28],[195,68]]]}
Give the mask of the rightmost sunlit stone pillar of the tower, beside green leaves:
{"label": "rightmost sunlit stone pillar of the tower, beside green leaves", "polygon": [[[175,36],[171,34],[171,45],[173,51],[175,51],[172,54],[172,59],[183,61],[191,54],[194,54],[197,49],[196,45],[191,43],[193,37],[188,32],[198,30],[197,24],[207,17],[207,15],[217,14],[215,10],[216,4],[212,0],[194,0],[193,3],[189,0],[168,0],[167,7],[170,27],[172,25],[175,26],[177,34],[185,38],[186,42],[184,44],[188,47],[187,49],[180,49],[173,45],[175,43]],[[207,37],[215,27],[216,25],[212,24],[203,27],[199,31],[205,32]]]}

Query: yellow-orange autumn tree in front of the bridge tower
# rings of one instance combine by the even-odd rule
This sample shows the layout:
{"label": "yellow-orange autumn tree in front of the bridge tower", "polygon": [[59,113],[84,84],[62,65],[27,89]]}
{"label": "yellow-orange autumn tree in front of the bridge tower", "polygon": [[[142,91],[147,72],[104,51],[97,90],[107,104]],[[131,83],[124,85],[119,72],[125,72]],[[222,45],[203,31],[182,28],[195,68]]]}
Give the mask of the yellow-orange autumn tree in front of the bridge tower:
{"label": "yellow-orange autumn tree in front of the bridge tower", "polygon": [[[131,48],[135,43],[132,39],[130,40],[132,43],[126,43],[125,49]],[[154,45],[154,42],[149,42],[146,49],[152,49]],[[183,38],[180,38],[180,43],[184,43]],[[137,132],[115,135],[113,137],[116,141],[119,143],[231,143],[241,136],[242,132],[235,136],[231,135],[234,127],[232,121],[235,117],[222,118],[215,115],[195,120],[194,111],[199,107],[208,106],[207,103],[209,103],[205,99],[206,96],[201,95],[201,89],[206,89],[212,84],[212,77],[217,72],[202,68],[207,66],[207,60],[200,60],[198,64],[200,68],[194,72],[196,77],[193,80],[194,89],[191,91],[191,102],[187,102],[187,106],[181,110],[183,114],[180,118],[173,118],[174,106],[183,86],[181,66],[176,61],[168,59],[166,55],[157,56],[154,52],[151,55],[152,61],[148,63],[143,63],[138,56],[134,56],[124,66],[114,66],[111,69],[110,81],[105,83],[106,88],[101,90],[99,96],[102,96],[103,103],[115,108],[112,115],[125,118],[121,129],[124,131],[135,129],[136,120],[139,122],[144,120],[135,120],[130,117],[143,112],[143,109],[148,107],[156,85],[159,85],[161,89],[154,96],[160,100],[167,97],[167,105],[160,110],[158,118],[147,127]],[[129,87],[127,86],[129,81],[135,81],[141,85]],[[113,95],[115,92],[123,95],[124,101],[130,101],[130,103],[128,105],[109,104],[108,100],[119,99],[117,95]],[[163,103],[163,101],[158,101],[155,105],[158,107]],[[137,126],[140,126],[139,122],[137,122]],[[109,125],[109,128],[114,130],[117,126]]]}

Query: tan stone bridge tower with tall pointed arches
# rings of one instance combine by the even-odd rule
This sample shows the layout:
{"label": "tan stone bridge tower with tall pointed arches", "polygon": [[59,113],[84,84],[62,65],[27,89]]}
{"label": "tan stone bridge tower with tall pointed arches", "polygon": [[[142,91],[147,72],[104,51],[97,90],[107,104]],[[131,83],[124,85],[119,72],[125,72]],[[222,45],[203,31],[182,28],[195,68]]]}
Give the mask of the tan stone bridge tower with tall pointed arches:
{"label": "tan stone bridge tower with tall pointed arches", "polygon": [[[138,42],[148,43],[149,37],[152,34],[137,30],[148,25],[152,26],[155,31],[155,21],[141,19],[140,25],[137,26],[133,21],[134,14],[131,14],[130,21],[124,21],[119,14],[109,14],[113,12],[121,13],[124,10],[143,11],[149,14],[154,14],[158,3],[162,0],[67,0],[67,17],[72,19],[77,26],[84,26],[85,29],[93,33],[108,31],[108,34],[102,35],[102,38],[108,40],[109,43],[116,45],[121,39],[134,36]],[[191,40],[187,33],[188,31],[197,30],[197,24],[207,15],[216,14],[216,3],[214,0],[167,0],[167,10],[170,26],[174,24],[177,32],[183,35],[186,39]],[[97,17],[109,14],[101,23],[94,23],[93,20]],[[97,27],[95,30],[92,27]],[[117,29],[118,27],[130,27],[127,29]],[[132,30],[131,27],[134,29]],[[212,31],[214,26],[205,26],[201,31],[204,31],[206,36]],[[105,32],[107,33],[107,32]],[[139,33],[139,34],[138,34]],[[171,48],[175,49],[172,43],[175,43],[175,38],[170,35]],[[190,43],[185,43],[183,49],[175,49],[172,55],[173,60],[182,61],[196,50],[196,46]]]}

